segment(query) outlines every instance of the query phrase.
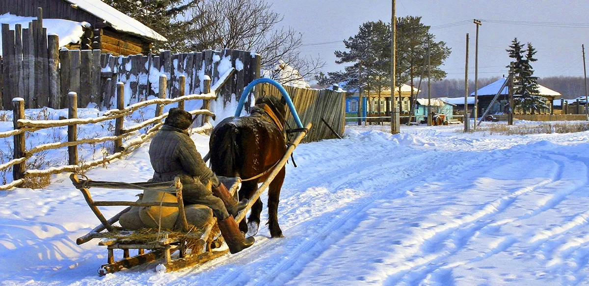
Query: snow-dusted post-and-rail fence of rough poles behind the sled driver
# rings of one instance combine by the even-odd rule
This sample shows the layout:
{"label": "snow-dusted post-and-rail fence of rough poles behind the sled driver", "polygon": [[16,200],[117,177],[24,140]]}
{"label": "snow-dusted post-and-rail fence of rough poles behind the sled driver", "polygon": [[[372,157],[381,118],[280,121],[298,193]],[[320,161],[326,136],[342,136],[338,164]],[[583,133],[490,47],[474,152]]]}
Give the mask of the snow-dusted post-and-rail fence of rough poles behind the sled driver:
{"label": "snow-dusted post-and-rail fence of rough poles behind the sled driver", "polygon": [[[220,92],[222,89],[226,88],[227,84],[229,84],[230,79],[233,77],[235,73],[234,68],[230,68],[225,72],[224,75],[221,75],[220,81],[217,82],[216,85],[211,88],[211,80],[210,78],[204,77],[203,80],[203,93],[202,94],[190,94],[184,95],[184,88],[178,89],[178,97],[176,98],[166,98],[167,94],[167,77],[165,75],[160,75],[159,78],[159,92],[158,98],[150,99],[147,101],[141,101],[133,105],[129,105],[125,107],[124,105],[124,98],[125,98],[125,84],[123,82],[117,83],[116,88],[116,102],[117,102],[117,109],[110,109],[109,111],[105,112],[104,115],[95,118],[77,118],[77,110],[78,110],[78,94],[76,92],[70,92],[68,94],[68,119],[59,119],[59,120],[29,120],[25,119],[25,100],[23,98],[14,98],[12,99],[12,106],[13,106],[13,122],[14,122],[14,130],[0,132],[0,138],[6,137],[13,137],[14,141],[14,154],[11,161],[6,162],[5,164],[0,165],[0,171],[8,169],[12,167],[12,178],[13,181],[9,184],[0,185],[0,190],[10,189],[13,187],[18,187],[18,185],[24,182],[25,177],[41,177],[44,175],[49,174],[57,174],[59,172],[75,172],[80,169],[87,169],[94,167],[96,165],[106,164],[107,162],[112,161],[113,159],[120,158],[125,154],[129,154],[135,148],[139,147],[145,141],[153,137],[157,131],[160,129],[161,125],[163,125],[162,120],[167,117],[166,114],[163,113],[163,107],[167,104],[177,103],[179,108],[184,109],[184,102],[187,100],[193,99],[201,99],[203,100],[203,107],[209,106],[209,102],[211,100],[217,99],[217,93]],[[178,82],[180,84],[186,83],[186,77],[181,75]],[[140,122],[135,124],[131,127],[123,128],[123,119],[127,115],[133,114],[134,111],[142,107],[147,107],[148,105],[156,105],[155,115],[154,118],[148,119],[146,121]],[[206,131],[210,131],[212,129],[212,125],[209,124],[208,118],[214,116],[212,112],[207,109],[196,109],[190,111],[192,115],[203,115],[203,119],[201,120],[201,126],[196,128],[196,132],[204,133]],[[78,139],[77,138],[77,125],[80,124],[95,124],[98,122],[108,121],[115,119],[114,125],[114,135],[100,137],[100,138],[87,138],[87,139]],[[149,127],[153,125],[151,128],[147,129],[145,133],[140,134],[138,132],[142,128]],[[37,131],[39,129],[44,128],[53,128],[53,127],[68,127],[68,141],[67,142],[52,142],[42,145],[37,145],[34,148],[26,149],[25,148],[25,132],[32,132]],[[131,138],[129,138],[131,137]],[[127,139],[123,142],[123,139]],[[98,159],[95,161],[90,162],[83,162],[80,164],[78,162],[78,145],[80,144],[89,144],[89,143],[98,143],[98,142],[105,142],[105,141],[114,141],[114,152],[110,155],[103,157],[102,159]],[[68,164],[61,167],[52,167],[48,169],[25,169],[25,161],[28,158],[31,158],[32,155],[45,151],[48,149],[57,149],[57,148],[68,148]]]}

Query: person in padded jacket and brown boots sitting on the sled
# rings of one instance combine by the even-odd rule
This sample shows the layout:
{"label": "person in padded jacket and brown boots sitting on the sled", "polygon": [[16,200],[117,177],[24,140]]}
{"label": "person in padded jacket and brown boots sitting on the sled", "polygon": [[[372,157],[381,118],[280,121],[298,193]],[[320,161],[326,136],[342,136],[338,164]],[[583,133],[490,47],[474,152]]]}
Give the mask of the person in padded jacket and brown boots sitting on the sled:
{"label": "person in padded jacket and brown boots sitting on the sled", "polygon": [[184,204],[206,205],[213,210],[219,230],[229,246],[229,251],[240,252],[252,246],[253,237],[245,238],[234,220],[239,211],[246,208],[247,199],[237,202],[207,167],[187,129],[193,119],[190,113],[172,108],[163,127],[155,134],[149,147],[153,181],[174,181],[180,177]]}

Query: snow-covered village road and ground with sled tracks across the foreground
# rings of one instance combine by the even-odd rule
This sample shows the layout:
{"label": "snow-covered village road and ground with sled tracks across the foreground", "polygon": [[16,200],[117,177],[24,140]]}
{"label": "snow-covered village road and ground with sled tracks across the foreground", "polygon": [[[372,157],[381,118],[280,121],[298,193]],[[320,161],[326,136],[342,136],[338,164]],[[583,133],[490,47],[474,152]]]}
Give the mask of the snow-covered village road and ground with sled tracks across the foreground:
{"label": "snow-covered village road and ground with sled tracks across the foreground", "polygon": [[[459,128],[355,127],[300,145],[280,200],[285,238],[263,225],[252,248],[169,274],[97,277],[106,251],[74,240],[98,221],[65,175],[2,194],[0,285],[589,285],[589,132]],[[146,180],[147,148],[88,176]]]}

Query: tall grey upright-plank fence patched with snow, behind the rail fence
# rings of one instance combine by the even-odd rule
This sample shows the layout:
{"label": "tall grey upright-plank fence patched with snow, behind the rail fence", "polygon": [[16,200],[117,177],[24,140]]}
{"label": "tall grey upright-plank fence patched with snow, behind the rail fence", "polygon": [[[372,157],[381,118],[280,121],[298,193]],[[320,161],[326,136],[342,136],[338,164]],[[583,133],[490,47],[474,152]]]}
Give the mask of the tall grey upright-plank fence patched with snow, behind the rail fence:
{"label": "tall grey upright-plank fence patched with snow, behind the rail fence", "polygon": [[[2,24],[2,101],[0,108],[12,108],[13,98],[24,98],[25,108],[67,108],[69,92],[78,94],[78,107],[90,103],[110,108],[114,105],[115,82],[125,83],[125,105],[157,96],[158,77],[166,75],[172,83],[167,95],[176,98],[178,78],[186,78],[188,94],[201,92],[204,78],[213,84],[230,67],[236,68],[220,97],[226,104],[239,99],[244,87],[260,77],[260,55],[224,49],[172,54],[113,56],[100,50],[59,50],[57,35],[47,35],[42,15],[22,29]],[[246,105],[249,107],[249,105]]]}

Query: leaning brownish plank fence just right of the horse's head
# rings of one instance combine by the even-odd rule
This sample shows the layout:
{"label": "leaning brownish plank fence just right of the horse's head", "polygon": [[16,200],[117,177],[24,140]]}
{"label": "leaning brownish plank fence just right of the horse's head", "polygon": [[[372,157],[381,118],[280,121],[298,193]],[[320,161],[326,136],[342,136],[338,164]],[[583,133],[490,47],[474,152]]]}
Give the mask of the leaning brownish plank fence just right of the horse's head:
{"label": "leaning brownish plank fence just right of the horse's head", "polygon": [[[261,85],[260,95],[282,97],[280,91],[271,84]],[[284,89],[292,98],[294,108],[299,113],[303,125],[311,122],[310,130],[303,142],[333,139],[343,136],[346,119],[346,92],[332,89],[297,88],[285,85]],[[287,128],[297,128],[290,112],[286,116]]]}

